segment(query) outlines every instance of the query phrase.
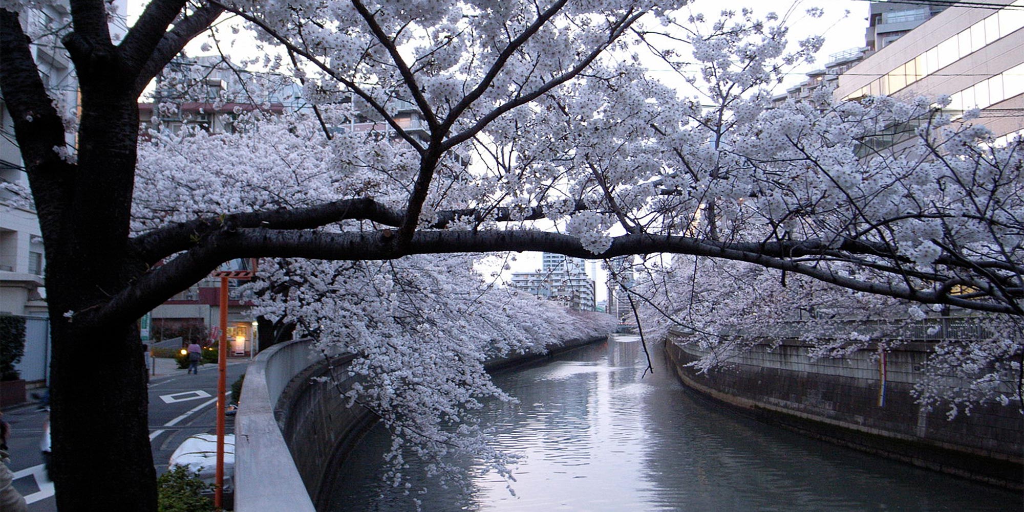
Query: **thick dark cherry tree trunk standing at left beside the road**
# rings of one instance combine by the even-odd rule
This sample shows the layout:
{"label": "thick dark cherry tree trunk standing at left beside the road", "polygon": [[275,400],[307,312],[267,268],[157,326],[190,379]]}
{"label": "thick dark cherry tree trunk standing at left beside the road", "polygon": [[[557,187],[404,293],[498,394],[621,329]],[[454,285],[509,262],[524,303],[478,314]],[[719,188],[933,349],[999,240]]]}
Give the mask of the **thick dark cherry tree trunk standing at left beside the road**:
{"label": "thick dark cherry tree trunk standing at left beside the road", "polygon": [[[53,343],[52,474],[61,512],[157,508],[137,318],[91,316],[146,268],[128,251],[138,105],[108,69],[116,66],[78,66],[77,166],[61,183],[59,207],[39,209]],[[51,197],[47,169],[33,171],[37,201]]]}

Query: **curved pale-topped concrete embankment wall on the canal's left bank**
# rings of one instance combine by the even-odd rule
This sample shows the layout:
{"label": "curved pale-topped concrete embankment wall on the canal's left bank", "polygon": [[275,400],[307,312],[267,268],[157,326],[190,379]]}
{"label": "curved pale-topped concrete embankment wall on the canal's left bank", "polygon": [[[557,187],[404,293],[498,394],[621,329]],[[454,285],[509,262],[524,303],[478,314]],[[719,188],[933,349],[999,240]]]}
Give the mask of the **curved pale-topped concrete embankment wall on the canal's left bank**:
{"label": "curved pale-topped concrete embankment wall on the canal's left bank", "polygon": [[[548,354],[514,354],[486,367],[508,368],[603,339],[556,343]],[[321,492],[332,486],[331,470],[377,421],[342,398],[353,382],[345,368],[350,360],[314,358],[308,340],[274,345],[256,356],[234,420],[234,510],[316,510]]]}

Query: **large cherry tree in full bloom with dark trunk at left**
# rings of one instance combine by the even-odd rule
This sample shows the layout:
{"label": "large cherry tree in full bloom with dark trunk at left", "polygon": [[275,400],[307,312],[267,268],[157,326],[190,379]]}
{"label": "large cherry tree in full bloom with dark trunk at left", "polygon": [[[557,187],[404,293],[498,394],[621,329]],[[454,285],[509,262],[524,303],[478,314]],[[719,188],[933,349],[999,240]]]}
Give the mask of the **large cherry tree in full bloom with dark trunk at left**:
{"label": "large cherry tree in full bloom with dark trunk at left", "polygon": [[[465,258],[426,255],[715,257],[1021,315],[1019,142],[991,146],[982,128],[950,124],[931,100],[768,109],[761,90],[818,43],[786,53],[771,16],[725,13],[703,26],[675,11],[682,3],[154,0],[115,43],[104,3],[74,0],[59,36],[80,83],[77,119],[53,106],[32,60],[19,16],[39,1],[0,3],[0,90],[47,257],[58,507],[156,508],[135,321],[232,258],[272,260],[273,279],[254,290],[274,305],[266,312],[351,336],[341,348],[367,353],[371,375],[439,356],[420,351],[424,335],[447,340],[452,352],[433,367],[359,395],[372,404],[435,378],[431,368],[452,375],[465,364],[437,396],[471,408],[488,389],[476,382],[480,356],[545,335],[521,316],[536,307],[520,299],[507,310],[474,306],[501,303],[490,292],[462,300],[453,285],[470,282]],[[141,91],[225,11],[295,58],[324,119],[158,136],[139,150]],[[703,97],[652,80],[634,56],[653,47],[679,65],[669,50],[680,44],[697,65],[681,77],[702,82]],[[331,116],[345,119],[344,103],[388,135],[368,143],[324,130]],[[419,132],[398,104],[411,105]],[[908,146],[864,153],[873,133],[918,120]],[[353,292],[361,286],[374,287],[366,308]],[[464,327],[459,316],[474,307]],[[357,322],[317,319],[332,315]],[[394,347],[375,358],[382,336]],[[382,413],[409,408],[421,425],[461,415],[410,396]],[[97,442],[115,434],[122,450],[96,471]]]}

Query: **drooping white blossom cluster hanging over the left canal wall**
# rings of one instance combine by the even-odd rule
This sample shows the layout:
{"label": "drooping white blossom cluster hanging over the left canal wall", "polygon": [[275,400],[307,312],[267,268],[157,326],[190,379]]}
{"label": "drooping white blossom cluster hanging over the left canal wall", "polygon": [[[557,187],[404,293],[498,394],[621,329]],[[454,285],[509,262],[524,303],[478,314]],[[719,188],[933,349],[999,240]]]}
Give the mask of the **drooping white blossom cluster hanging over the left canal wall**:
{"label": "drooping white blossom cluster hanging over the left canal wall", "polygon": [[[265,260],[267,275],[247,287],[254,312],[296,322],[325,356],[357,357],[342,380],[358,376],[351,403],[375,412],[392,431],[390,477],[401,483],[415,453],[442,480],[462,474],[444,454],[475,454],[509,475],[512,454],[490,446],[474,412],[487,400],[511,400],[483,365],[539,353],[545,345],[600,336],[610,316],[569,314],[562,306],[482,283],[466,256],[415,256],[391,262]],[[287,283],[287,286],[274,286]]]}

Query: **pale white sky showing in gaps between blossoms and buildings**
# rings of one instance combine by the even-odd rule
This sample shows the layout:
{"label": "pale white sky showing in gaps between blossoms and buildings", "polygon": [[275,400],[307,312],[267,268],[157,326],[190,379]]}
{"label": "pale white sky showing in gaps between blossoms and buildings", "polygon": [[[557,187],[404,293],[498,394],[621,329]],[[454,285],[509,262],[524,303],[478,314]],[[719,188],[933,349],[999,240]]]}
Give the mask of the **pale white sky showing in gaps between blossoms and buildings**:
{"label": "pale white sky showing in gaps between blossoms and buildings", "polygon": [[[129,25],[134,23],[144,4],[145,2],[142,0],[128,0]],[[722,10],[739,11],[743,7],[752,8],[756,17],[763,17],[768,12],[775,12],[788,19],[791,44],[809,36],[823,36],[825,42],[817,54],[816,62],[798,67],[787,74],[784,82],[777,86],[774,91],[776,94],[781,94],[785,92],[786,88],[801,83],[805,73],[822,68],[825,62],[830,60],[829,55],[864,46],[868,5],[869,2],[866,0],[694,0],[687,8],[693,13],[703,13],[709,19],[718,17]],[[822,8],[824,15],[820,18],[806,15],[806,10],[811,7]],[[186,47],[188,54],[199,56],[209,53],[202,50],[204,39],[201,36],[190,43]],[[241,49],[239,48],[241,44],[241,42],[237,43],[234,49]],[[252,51],[255,52],[255,50]],[[246,53],[246,51],[243,49],[242,53]],[[668,75],[667,70],[665,73]],[[656,77],[658,70],[652,70],[652,74]],[[515,261],[511,261],[509,264],[512,268],[511,271],[531,271],[541,267],[541,254],[519,254]],[[596,273],[597,299],[600,301],[606,295],[604,271],[598,268]]]}

